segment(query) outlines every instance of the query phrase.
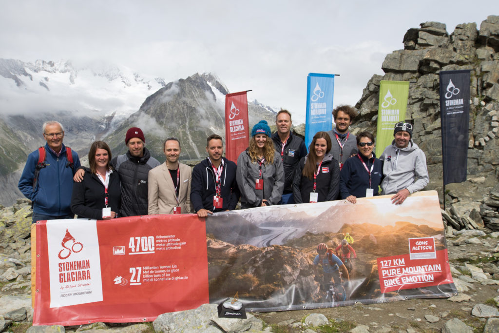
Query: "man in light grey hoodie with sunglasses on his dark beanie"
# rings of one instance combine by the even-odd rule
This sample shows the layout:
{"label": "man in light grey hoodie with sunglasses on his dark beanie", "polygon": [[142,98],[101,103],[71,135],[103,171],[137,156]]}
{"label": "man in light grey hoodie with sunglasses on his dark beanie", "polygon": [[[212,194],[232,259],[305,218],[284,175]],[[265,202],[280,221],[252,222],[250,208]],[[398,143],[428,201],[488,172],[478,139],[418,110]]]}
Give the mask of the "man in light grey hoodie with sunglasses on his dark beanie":
{"label": "man in light grey hoodie with sunglasses on his dark beanie", "polygon": [[383,161],[383,195],[395,194],[392,203],[400,205],[412,193],[421,191],[429,181],[425,153],[412,140],[413,126],[398,122],[394,140],[379,158]]}

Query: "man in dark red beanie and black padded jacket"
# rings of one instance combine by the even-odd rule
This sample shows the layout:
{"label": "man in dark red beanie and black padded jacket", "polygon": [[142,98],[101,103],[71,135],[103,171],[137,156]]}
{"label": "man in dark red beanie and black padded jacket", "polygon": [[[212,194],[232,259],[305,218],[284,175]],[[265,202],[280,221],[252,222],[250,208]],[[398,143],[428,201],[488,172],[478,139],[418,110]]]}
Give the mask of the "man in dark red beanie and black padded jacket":
{"label": "man in dark red beanie and black padded jacket", "polygon": [[[121,181],[121,209],[118,216],[147,215],[147,176],[149,170],[161,163],[145,147],[146,138],[140,128],[128,129],[125,144],[127,153],[111,160],[111,166],[118,172]],[[74,181],[80,182],[83,174],[83,170],[78,170]]]}

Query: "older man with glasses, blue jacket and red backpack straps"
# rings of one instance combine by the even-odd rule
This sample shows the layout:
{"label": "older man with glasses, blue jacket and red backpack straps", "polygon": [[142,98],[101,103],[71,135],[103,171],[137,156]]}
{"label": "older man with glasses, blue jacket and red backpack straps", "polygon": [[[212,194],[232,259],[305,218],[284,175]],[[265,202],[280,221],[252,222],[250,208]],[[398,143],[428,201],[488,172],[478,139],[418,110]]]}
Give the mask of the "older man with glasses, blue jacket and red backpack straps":
{"label": "older man with glasses, blue jacket and red backpack straps", "polygon": [[39,169],[38,179],[33,182],[39,151],[37,149],[30,153],[17,187],[33,202],[33,223],[72,219],[73,174],[80,166],[80,159],[78,154],[72,151],[72,165],[68,160],[67,148],[62,143],[64,128],[59,122],[47,121],[42,130],[47,141],[44,147],[45,166]]}

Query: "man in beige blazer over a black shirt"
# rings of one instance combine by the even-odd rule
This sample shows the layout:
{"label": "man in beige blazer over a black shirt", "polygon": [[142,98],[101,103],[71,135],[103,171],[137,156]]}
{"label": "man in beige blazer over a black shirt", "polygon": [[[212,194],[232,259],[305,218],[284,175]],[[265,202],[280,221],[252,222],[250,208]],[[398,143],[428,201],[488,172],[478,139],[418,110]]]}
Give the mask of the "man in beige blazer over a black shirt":
{"label": "man in beige blazer over a black shirt", "polygon": [[180,142],[167,138],[165,163],[149,170],[148,214],[188,214],[191,208],[191,167],[179,163]]}

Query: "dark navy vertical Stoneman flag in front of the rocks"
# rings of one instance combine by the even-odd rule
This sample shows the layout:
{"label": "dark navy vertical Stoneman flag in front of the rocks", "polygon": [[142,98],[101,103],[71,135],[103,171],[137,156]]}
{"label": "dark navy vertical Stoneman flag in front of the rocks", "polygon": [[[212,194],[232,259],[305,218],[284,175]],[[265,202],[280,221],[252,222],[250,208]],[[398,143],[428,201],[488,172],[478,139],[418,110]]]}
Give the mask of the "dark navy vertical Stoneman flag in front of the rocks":
{"label": "dark navy vertical Stoneman flag in front of the rocks", "polygon": [[470,122],[470,70],[440,72],[444,186],[466,181]]}

